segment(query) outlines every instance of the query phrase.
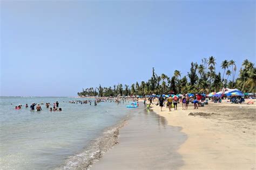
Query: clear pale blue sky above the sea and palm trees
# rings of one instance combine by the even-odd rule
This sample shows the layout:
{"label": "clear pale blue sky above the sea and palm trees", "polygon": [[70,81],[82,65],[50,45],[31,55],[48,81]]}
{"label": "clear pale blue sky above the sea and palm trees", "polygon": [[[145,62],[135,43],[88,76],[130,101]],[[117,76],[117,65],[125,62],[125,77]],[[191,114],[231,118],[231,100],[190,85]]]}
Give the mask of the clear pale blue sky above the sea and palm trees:
{"label": "clear pale blue sky above the sea and palm trees", "polygon": [[[255,1],[1,1],[0,96],[76,96],[214,56],[255,63]],[[221,70],[221,73],[223,71]]]}

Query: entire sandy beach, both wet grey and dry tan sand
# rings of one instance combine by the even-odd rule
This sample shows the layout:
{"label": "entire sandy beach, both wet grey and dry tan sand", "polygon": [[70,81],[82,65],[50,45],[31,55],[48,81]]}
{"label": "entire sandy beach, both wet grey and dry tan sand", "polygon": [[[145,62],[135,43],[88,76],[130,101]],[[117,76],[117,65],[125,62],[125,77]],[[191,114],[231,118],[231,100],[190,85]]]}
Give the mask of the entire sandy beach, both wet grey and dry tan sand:
{"label": "entire sandy beach, both wet grey and dry tan sand", "polygon": [[180,104],[169,112],[155,104],[151,109],[176,133],[131,120],[91,169],[255,169],[255,105],[210,102],[182,110]]}

